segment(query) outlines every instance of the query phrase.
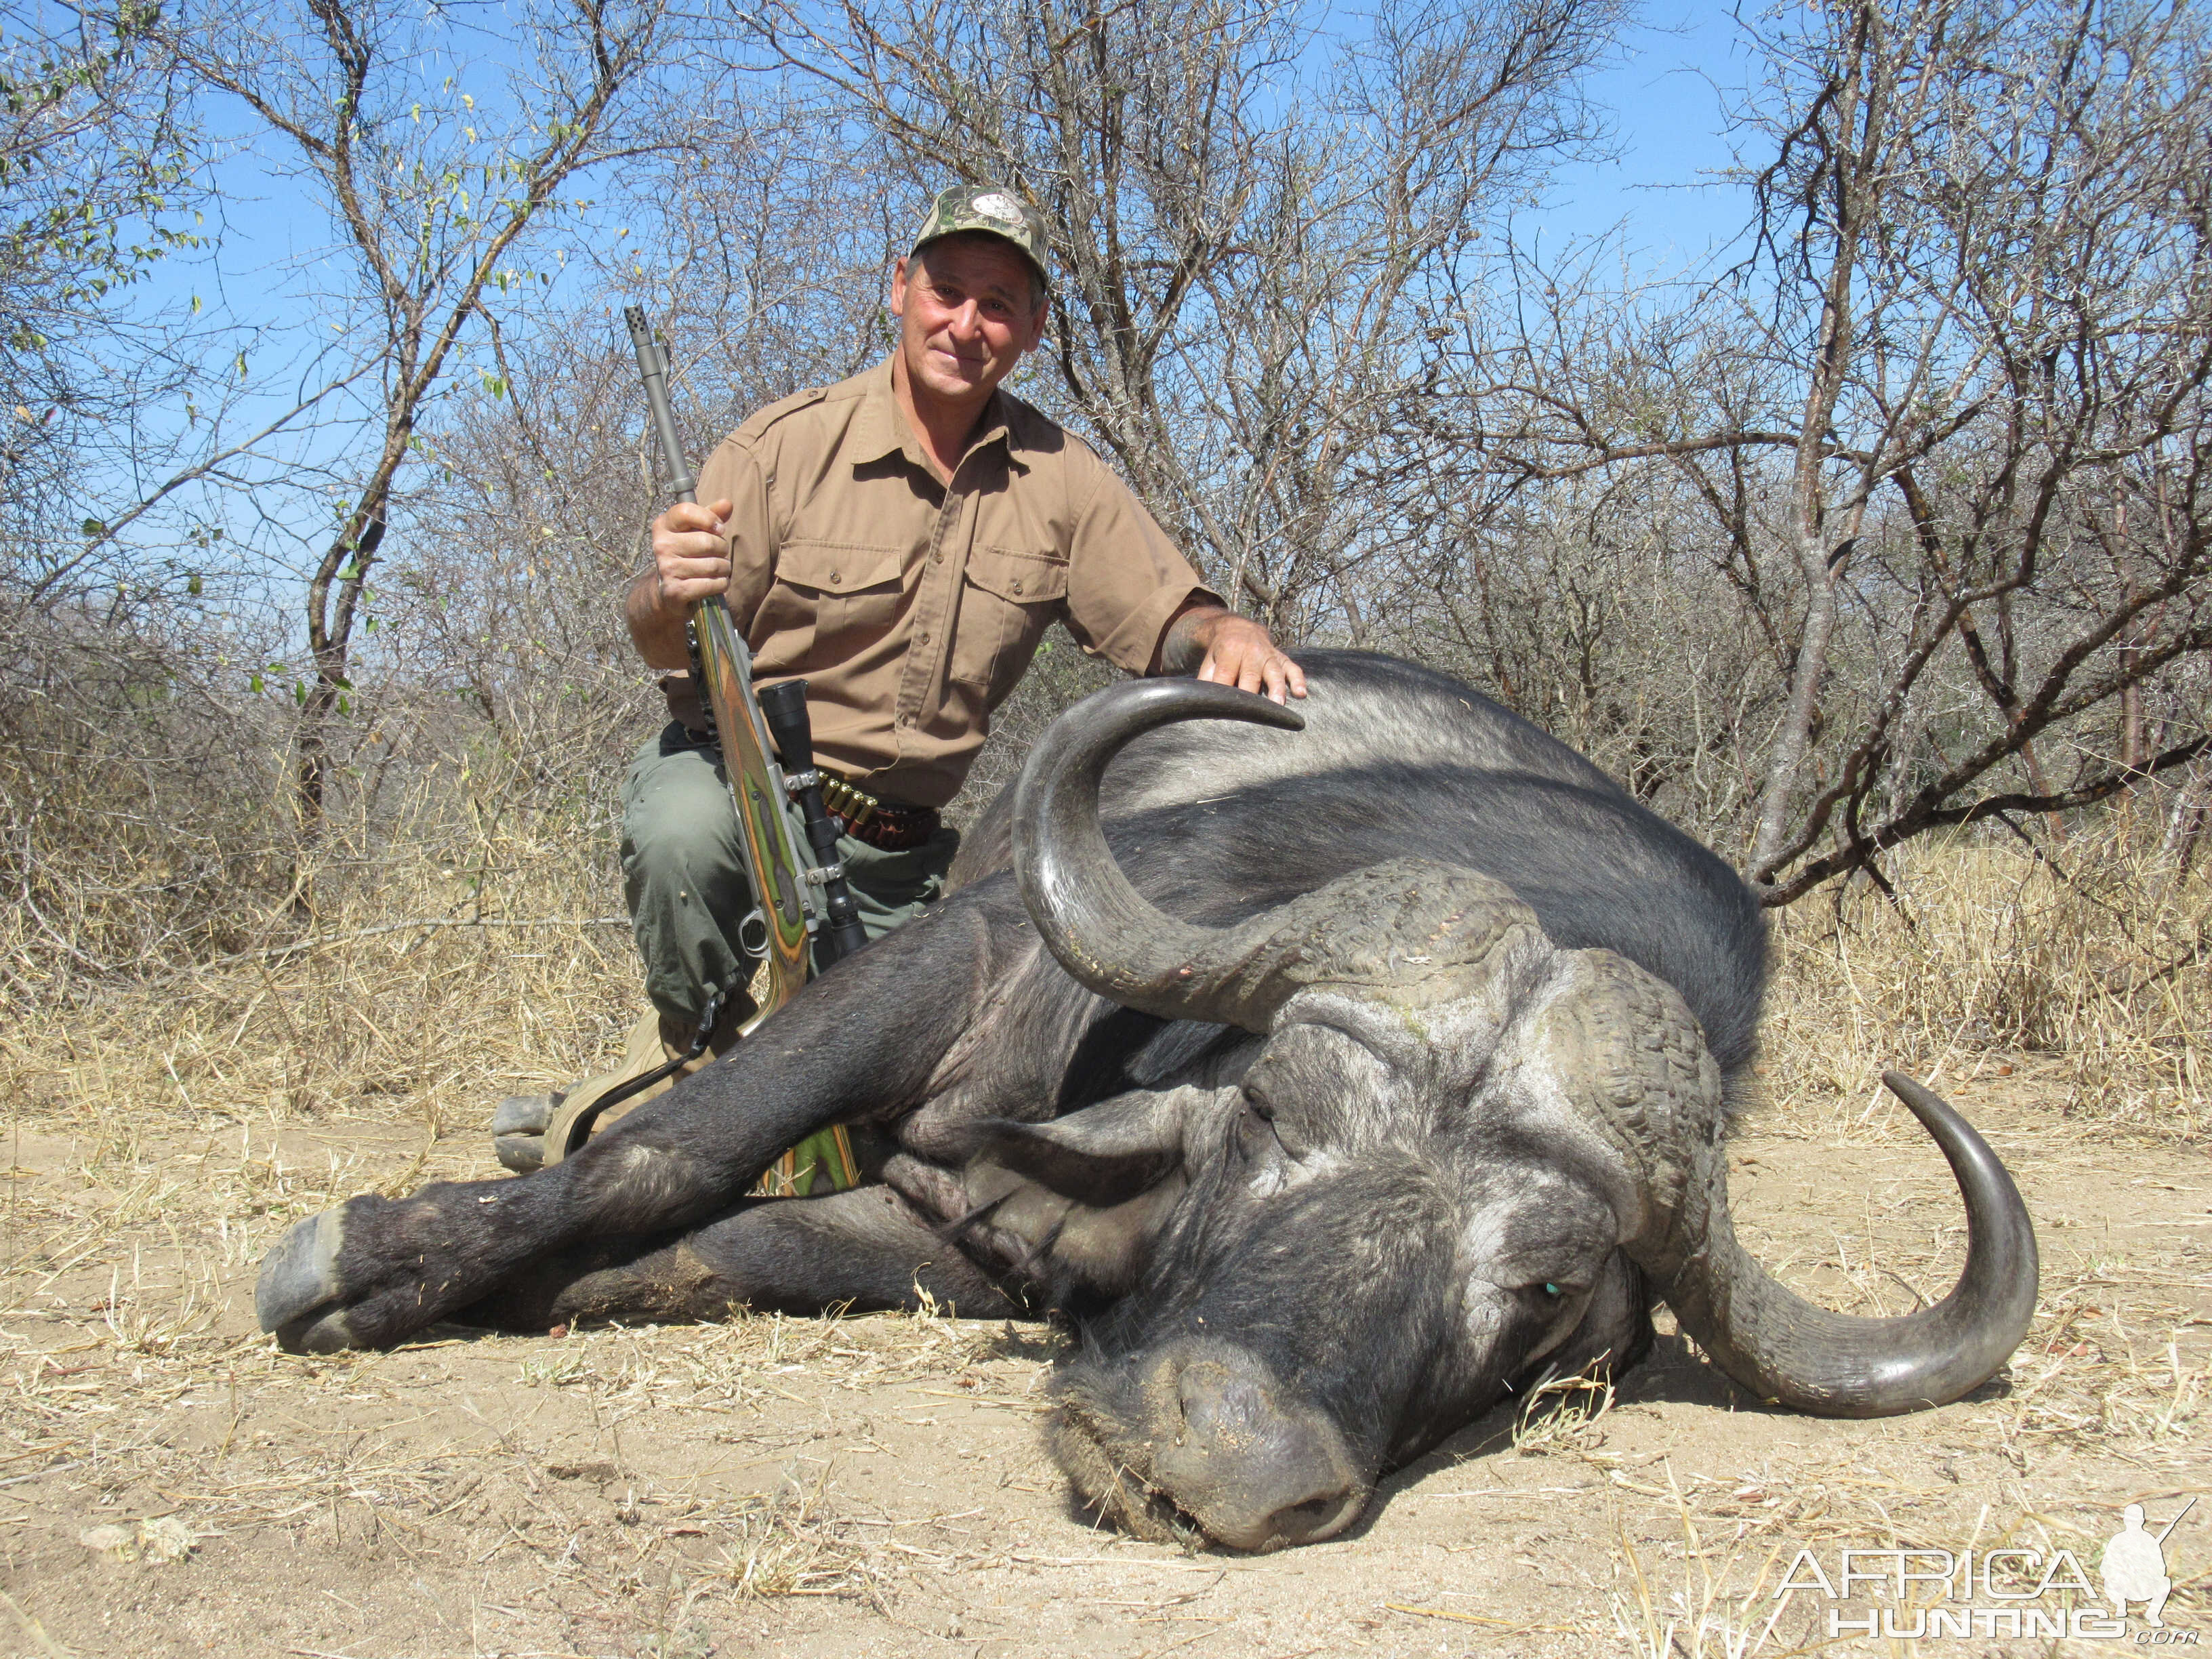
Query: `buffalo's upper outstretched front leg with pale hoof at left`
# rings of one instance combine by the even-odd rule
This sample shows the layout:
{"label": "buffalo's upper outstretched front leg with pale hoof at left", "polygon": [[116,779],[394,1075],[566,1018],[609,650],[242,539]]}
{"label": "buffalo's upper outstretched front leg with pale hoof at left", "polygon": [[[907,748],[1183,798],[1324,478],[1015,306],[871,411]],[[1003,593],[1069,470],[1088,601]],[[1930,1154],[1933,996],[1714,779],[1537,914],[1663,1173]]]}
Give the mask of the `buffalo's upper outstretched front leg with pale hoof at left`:
{"label": "buffalo's upper outstretched front leg with pale hoof at left", "polygon": [[551,1252],[699,1228],[785,1146],[918,1104],[971,1015],[973,998],[949,991],[987,967],[984,918],[949,900],[551,1170],[365,1194],[310,1217],[261,1263],[261,1329],[305,1354],[389,1347]]}

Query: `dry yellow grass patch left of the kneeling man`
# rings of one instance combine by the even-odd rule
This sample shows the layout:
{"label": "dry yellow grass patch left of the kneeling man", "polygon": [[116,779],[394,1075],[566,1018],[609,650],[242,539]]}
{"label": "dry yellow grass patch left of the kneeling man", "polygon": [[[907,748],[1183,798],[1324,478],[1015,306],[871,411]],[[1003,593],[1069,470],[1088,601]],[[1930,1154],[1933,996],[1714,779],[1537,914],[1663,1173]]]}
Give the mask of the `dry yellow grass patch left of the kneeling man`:
{"label": "dry yellow grass patch left of the kneeling man", "polygon": [[374,872],[332,869],[305,920],[270,905],[246,949],[18,1004],[0,1093],[119,1144],[142,1121],[473,1124],[586,1075],[641,1006],[604,852],[557,825],[387,847]]}

